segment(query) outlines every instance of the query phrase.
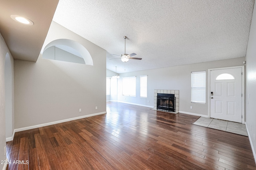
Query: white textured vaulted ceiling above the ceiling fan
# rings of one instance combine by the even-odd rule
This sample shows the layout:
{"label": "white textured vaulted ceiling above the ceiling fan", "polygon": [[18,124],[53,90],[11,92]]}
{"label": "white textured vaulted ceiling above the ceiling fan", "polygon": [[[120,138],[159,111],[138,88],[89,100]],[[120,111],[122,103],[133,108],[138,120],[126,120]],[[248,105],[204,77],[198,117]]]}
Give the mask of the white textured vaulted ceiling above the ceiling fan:
{"label": "white textured vaulted ceiling above the ceiling fan", "polygon": [[[53,20],[110,54],[136,53],[107,68],[131,72],[244,57],[254,0],[59,0]],[[126,68],[126,69],[125,69]]]}

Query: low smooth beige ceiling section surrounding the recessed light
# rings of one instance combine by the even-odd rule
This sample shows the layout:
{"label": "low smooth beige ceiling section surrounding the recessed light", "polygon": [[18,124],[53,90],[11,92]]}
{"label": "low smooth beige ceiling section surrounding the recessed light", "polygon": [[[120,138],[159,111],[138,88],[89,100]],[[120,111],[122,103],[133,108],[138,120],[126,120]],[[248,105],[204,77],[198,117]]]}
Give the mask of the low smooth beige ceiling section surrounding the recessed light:
{"label": "low smooth beige ceiling section surrounding the recessed light", "polygon": [[[0,33],[14,59],[36,62],[58,0],[1,0]],[[28,18],[34,25],[23,25],[10,17]]]}

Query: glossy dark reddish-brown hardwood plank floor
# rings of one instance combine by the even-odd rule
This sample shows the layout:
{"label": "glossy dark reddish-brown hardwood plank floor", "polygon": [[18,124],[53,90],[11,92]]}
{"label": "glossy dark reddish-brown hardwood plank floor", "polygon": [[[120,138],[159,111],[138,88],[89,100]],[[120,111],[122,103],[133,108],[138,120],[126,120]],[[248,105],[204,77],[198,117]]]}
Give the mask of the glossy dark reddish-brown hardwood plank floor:
{"label": "glossy dark reddish-brown hardwood plank floor", "polygon": [[196,119],[108,102],[107,114],[15,133],[7,169],[256,170],[248,137]]}

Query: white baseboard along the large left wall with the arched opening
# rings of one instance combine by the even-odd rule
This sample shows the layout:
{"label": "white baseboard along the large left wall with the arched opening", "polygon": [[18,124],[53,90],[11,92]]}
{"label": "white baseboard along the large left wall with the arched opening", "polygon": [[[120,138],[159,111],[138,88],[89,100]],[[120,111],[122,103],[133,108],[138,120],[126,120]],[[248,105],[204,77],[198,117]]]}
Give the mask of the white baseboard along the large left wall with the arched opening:
{"label": "white baseboard along the large left wall with the arched opening", "polygon": [[59,120],[59,121],[53,121],[53,122],[49,122],[49,123],[43,123],[43,124],[40,124],[40,125],[33,125],[33,126],[28,126],[28,127],[22,127],[22,128],[14,129],[14,132],[13,132],[12,137],[6,138],[6,142],[7,142],[7,140],[8,140],[8,141],[12,141],[13,138],[14,138],[14,134],[15,134],[16,132],[26,131],[26,130],[35,129],[35,128],[38,128],[38,127],[44,127],[44,126],[54,125],[54,124],[63,123],[63,122],[67,122],[67,121],[72,121],[72,120],[77,120],[77,119],[82,119],[82,118],[85,118],[85,117],[91,117],[91,116],[96,116],[96,115],[102,115],[102,114],[105,114],[105,113],[107,113],[107,112],[104,111],[104,112],[100,112],[100,113],[93,113],[93,114],[90,114],[90,115],[84,115],[84,116],[79,116],[79,117],[72,117],[72,118],[69,118],[69,119],[64,119],[64,120]]}

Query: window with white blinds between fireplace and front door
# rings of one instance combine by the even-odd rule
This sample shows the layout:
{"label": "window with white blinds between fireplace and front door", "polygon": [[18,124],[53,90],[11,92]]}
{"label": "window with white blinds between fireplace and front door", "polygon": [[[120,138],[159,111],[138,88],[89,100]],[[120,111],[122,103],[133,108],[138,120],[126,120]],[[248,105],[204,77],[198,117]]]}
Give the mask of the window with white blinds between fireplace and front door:
{"label": "window with white blinds between fireplace and front door", "polygon": [[206,71],[191,72],[191,102],[206,103]]}

